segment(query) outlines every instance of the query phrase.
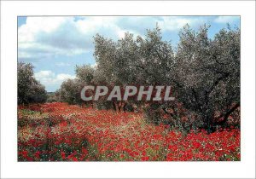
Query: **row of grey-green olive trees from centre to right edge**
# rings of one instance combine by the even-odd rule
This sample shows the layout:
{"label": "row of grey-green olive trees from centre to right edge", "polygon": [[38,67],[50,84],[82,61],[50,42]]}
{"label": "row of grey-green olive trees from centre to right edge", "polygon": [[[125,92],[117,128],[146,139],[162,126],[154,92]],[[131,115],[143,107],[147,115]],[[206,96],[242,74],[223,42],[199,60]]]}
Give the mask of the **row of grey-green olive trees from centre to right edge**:
{"label": "row of grey-green olive trees from centre to right edge", "polygon": [[[177,48],[162,39],[158,26],[145,38],[127,32],[118,41],[96,34],[96,67],[77,66],[75,79],[61,85],[61,101],[83,104],[84,85],[171,85],[175,101],[94,101],[98,108],[142,110],[149,122],[211,132],[240,107],[240,29],[228,26],[213,38],[210,26],[188,25]],[[239,114],[238,114],[239,115]]]}

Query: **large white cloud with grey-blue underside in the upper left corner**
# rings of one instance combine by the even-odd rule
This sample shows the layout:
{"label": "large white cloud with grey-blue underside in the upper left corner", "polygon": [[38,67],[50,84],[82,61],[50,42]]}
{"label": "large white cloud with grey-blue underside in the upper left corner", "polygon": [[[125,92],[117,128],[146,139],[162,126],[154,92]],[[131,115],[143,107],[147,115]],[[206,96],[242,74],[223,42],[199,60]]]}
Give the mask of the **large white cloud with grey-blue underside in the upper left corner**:
{"label": "large white cloud with grey-blue underside in the upper left corner", "polygon": [[83,38],[72,17],[27,17],[18,30],[19,59],[81,54],[90,46],[87,38]]}

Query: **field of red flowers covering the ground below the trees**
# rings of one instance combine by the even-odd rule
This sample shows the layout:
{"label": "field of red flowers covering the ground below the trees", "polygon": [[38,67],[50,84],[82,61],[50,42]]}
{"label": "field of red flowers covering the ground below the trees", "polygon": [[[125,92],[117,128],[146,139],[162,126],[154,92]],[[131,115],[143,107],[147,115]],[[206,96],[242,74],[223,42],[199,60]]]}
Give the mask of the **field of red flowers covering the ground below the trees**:
{"label": "field of red flowers covering the ground below the trees", "polygon": [[18,161],[240,160],[240,130],[183,134],[141,113],[66,103],[18,109]]}

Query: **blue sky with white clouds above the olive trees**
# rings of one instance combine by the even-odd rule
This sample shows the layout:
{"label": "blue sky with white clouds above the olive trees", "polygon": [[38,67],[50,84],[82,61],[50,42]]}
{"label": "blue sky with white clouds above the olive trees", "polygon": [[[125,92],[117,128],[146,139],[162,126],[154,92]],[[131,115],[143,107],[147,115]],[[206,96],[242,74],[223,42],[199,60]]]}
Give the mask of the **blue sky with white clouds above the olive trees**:
{"label": "blue sky with white clouds above the olive trees", "polygon": [[239,16],[20,16],[18,61],[32,63],[34,76],[45,90],[54,92],[67,78],[75,78],[75,66],[95,66],[93,36],[118,40],[125,32],[144,37],[147,29],[160,27],[163,39],[177,46],[178,32],[211,25],[208,36],[220,29],[240,27]]}

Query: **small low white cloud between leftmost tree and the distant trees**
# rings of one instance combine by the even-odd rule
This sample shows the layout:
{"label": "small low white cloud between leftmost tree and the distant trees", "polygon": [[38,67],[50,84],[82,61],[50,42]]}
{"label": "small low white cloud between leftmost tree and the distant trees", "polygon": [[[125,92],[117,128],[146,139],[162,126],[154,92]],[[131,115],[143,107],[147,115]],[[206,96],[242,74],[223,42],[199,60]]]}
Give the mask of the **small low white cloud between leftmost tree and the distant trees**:
{"label": "small low white cloud between leftmost tree and the distant trees", "polygon": [[75,78],[75,75],[66,73],[55,74],[55,72],[51,71],[35,72],[34,76],[36,79],[38,79],[38,81],[40,81],[41,84],[44,84],[46,90],[55,88],[55,86],[60,86],[62,82],[68,78]]}

